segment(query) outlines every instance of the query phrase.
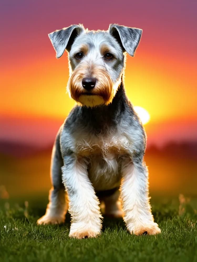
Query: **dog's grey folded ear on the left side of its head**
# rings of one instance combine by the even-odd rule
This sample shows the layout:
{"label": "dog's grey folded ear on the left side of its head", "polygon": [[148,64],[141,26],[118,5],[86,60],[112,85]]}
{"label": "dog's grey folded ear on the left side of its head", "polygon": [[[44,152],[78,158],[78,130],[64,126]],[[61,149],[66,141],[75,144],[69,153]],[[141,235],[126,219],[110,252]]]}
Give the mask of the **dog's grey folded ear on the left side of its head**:
{"label": "dog's grey folded ear on the left side of its head", "polygon": [[80,35],[84,31],[84,26],[71,25],[61,30],[56,30],[49,34],[51,43],[56,51],[56,57],[60,58],[65,49],[70,51],[71,45],[74,42],[77,35]]}

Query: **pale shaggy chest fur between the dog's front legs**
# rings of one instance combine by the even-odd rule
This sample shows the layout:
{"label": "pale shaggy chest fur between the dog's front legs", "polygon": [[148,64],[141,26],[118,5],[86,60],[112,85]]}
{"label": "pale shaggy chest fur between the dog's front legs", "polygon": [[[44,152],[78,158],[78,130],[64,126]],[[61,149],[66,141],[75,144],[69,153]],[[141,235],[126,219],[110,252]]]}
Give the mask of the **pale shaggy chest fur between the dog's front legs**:
{"label": "pale shaggy chest fur between the dog's front legs", "polygon": [[88,174],[96,190],[120,185],[121,159],[129,154],[128,143],[123,135],[87,136],[77,141],[77,154],[89,159]]}

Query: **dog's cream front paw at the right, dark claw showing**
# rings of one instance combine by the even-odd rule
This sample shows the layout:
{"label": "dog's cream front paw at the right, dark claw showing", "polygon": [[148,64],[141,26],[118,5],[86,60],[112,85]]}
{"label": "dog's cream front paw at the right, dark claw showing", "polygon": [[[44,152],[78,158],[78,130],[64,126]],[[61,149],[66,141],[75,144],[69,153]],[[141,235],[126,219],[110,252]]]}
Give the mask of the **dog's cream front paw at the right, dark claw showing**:
{"label": "dog's cream front paw at the right, dark claw showing", "polygon": [[157,223],[150,223],[147,225],[135,225],[131,229],[128,229],[131,234],[135,234],[137,236],[141,236],[143,234],[147,235],[156,235],[161,233],[160,228],[158,227]]}

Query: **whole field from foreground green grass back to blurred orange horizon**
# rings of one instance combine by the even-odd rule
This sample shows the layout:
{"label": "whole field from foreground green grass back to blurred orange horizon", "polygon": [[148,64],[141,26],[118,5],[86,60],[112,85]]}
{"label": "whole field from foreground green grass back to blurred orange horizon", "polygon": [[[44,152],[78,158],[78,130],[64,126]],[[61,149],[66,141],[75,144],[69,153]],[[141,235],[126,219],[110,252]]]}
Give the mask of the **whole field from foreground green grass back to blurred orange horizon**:
{"label": "whole field from foreground green grass back to blurred orange horizon", "polygon": [[50,188],[50,152],[1,157],[0,261],[197,261],[197,163],[147,154],[151,204],[162,233],[130,235],[122,219],[104,217],[96,239],[70,239],[64,225],[37,226]]}

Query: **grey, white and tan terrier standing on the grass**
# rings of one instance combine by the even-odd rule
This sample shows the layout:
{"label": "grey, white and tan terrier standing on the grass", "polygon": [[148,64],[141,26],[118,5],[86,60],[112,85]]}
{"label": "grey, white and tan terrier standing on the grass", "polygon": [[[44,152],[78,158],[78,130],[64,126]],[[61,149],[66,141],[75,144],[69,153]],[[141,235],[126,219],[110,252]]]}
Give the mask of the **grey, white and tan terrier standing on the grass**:
{"label": "grey, white and tan terrier standing on the grass", "polygon": [[49,34],[56,57],[68,52],[69,96],[77,104],[60,127],[51,158],[46,213],[37,223],[65,220],[69,236],[101,234],[105,214],[123,217],[131,234],[160,233],[148,196],[146,133],[125,94],[126,53],[134,56],[142,30],[110,24],[90,31],[82,24]]}

